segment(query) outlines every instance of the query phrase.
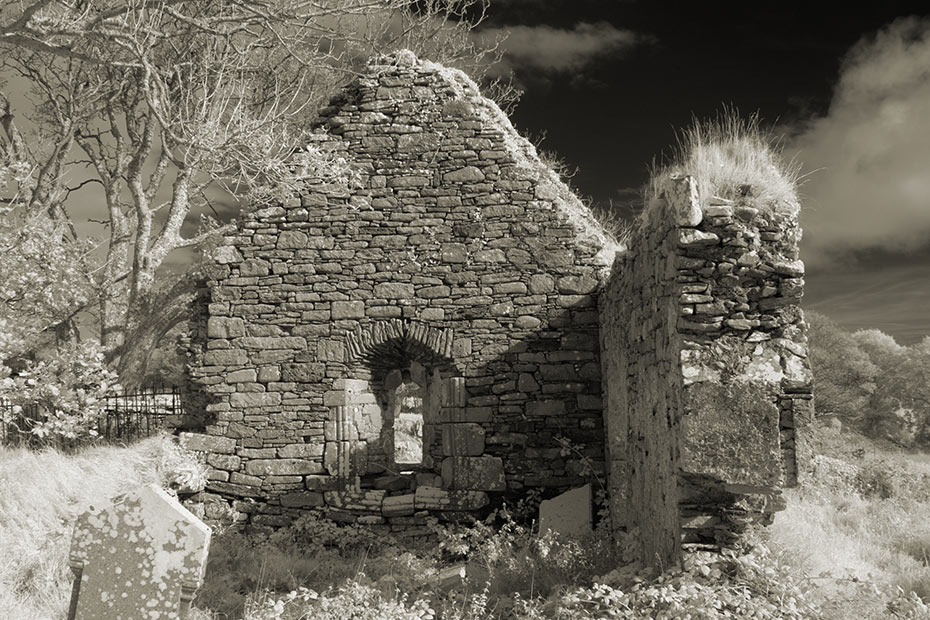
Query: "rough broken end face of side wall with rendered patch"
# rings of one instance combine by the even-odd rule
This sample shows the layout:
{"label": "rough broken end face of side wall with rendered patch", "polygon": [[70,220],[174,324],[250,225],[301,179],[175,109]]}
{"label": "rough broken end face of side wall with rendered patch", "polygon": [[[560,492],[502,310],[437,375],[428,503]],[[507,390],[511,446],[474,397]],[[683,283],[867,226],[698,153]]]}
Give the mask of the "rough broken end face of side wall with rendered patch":
{"label": "rough broken end face of side wall with rendered patch", "polygon": [[[668,200],[681,213],[695,198],[687,180],[677,183]],[[780,489],[803,476],[811,373],[798,205],[749,197],[700,212],[678,242],[680,501],[685,541],[719,546],[769,522]]]}

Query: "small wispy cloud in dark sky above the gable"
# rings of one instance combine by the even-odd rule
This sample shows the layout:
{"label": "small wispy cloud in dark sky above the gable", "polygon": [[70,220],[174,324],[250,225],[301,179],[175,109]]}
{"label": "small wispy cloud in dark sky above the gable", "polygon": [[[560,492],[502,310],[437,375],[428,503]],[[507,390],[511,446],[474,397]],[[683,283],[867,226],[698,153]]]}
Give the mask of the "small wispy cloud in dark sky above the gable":
{"label": "small wispy cloud in dark sky above the gable", "polygon": [[501,73],[529,69],[543,73],[579,71],[594,59],[633,47],[641,37],[607,22],[581,22],[571,30],[552,26],[488,28],[481,36],[506,36]]}

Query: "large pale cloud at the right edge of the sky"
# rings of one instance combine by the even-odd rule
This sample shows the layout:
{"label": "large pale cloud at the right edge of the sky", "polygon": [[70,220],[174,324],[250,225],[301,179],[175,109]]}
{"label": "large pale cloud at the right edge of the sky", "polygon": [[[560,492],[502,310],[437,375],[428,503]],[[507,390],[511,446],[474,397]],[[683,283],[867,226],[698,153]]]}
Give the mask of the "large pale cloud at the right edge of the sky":
{"label": "large pale cloud at the right edge of the sky", "polygon": [[893,22],[847,54],[826,116],[793,141],[805,258],[930,245],[930,21]]}

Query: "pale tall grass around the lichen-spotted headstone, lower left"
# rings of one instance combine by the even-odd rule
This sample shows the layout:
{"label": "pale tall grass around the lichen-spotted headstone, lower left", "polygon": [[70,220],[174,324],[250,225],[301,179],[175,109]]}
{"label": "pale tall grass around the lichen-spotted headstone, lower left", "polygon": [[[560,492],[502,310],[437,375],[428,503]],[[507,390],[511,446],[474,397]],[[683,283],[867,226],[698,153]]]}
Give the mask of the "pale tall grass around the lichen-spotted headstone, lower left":
{"label": "pale tall grass around the lichen-spotted headstone, lower left", "polygon": [[63,618],[77,516],[140,485],[164,486],[188,459],[166,436],[75,454],[0,448],[0,617]]}

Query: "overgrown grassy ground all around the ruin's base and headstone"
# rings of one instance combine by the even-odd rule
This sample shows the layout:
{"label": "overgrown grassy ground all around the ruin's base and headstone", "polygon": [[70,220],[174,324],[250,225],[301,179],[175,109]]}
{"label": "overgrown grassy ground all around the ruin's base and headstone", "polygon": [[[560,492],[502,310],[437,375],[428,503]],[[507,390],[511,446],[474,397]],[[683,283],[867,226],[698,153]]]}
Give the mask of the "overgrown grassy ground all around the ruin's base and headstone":
{"label": "overgrown grassy ground all around the ruin's base and headstone", "polygon": [[[818,437],[812,480],[745,555],[689,555],[655,578],[601,533],[539,538],[501,515],[437,525],[439,544],[419,548],[308,516],[271,537],[217,535],[191,620],[930,618],[930,459]],[[166,438],[75,455],[0,449],[5,617],[63,618],[76,515],[190,468]]]}

